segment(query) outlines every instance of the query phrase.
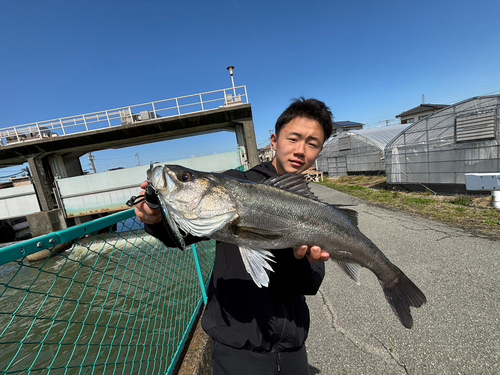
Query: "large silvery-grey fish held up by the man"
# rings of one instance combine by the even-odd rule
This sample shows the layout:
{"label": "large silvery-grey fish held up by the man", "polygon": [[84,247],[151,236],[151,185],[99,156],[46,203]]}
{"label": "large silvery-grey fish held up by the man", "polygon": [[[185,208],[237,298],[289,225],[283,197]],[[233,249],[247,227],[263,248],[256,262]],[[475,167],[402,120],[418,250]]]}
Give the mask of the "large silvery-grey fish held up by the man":
{"label": "large silvery-grey fish held up by the man", "polygon": [[[287,174],[261,184],[178,165],[151,167],[164,216],[184,232],[239,246],[247,271],[267,286],[272,254],[266,249],[320,246],[359,284],[361,267],[378,278],[385,298],[406,328],[410,306],[426,302],[420,289],[357,227],[357,213],[318,201],[303,176]],[[173,220],[173,222],[172,222]]]}

